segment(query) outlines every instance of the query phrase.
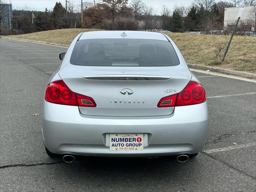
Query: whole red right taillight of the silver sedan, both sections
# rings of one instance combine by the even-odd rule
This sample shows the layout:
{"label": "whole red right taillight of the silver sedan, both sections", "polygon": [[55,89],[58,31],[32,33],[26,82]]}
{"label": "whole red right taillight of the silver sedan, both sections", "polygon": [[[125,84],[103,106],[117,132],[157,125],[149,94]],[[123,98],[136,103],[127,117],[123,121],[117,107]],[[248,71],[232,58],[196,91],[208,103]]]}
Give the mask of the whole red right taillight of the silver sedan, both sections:
{"label": "whole red right taillight of the silver sedan, both sections", "polygon": [[[172,102],[170,102],[172,100]],[[158,102],[158,107],[174,107],[203,103],[206,101],[205,90],[202,85],[195,81],[190,81],[186,87],[178,94],[162,98]],[[169,103],[168,103],[169,102]]]}

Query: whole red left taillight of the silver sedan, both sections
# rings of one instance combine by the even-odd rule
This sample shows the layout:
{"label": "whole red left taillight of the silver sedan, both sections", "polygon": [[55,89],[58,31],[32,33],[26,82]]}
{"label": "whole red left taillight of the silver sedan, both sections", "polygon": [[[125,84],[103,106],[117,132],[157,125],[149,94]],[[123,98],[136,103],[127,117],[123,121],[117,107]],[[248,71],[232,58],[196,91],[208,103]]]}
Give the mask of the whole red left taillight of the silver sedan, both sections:
{"label": "whole red left taillight of the silver sedan, both sections", "polygon": [[63,80],[50,82],[46,87],[44,99],[55,104],[96,107],[91,97],[74,93]]}

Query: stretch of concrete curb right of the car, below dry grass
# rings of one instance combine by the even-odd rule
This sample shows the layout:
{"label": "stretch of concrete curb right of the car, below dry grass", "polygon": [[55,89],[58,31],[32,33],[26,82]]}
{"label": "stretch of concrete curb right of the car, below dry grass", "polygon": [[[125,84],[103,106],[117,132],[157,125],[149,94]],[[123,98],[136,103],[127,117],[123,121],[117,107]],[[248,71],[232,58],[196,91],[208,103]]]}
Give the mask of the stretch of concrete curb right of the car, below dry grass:
{"label": "stretch of concrete curb right of the car, below dry grass", "polygon": [[211,66],[204,66],[204,65],[198,65],[198,64],[190,64],[190,63],[187,63],[187,65],[189,68],[193,68],[193,69],[210,70],[211,72],[218,72],[218,73],[240,76],[240,77],[249,78],[249,79],[256,79],[256,74],[253,74],[253,73],[235,71],[235,70],[223,69],[223,68],[217,68],[217,67],[211,67]]}

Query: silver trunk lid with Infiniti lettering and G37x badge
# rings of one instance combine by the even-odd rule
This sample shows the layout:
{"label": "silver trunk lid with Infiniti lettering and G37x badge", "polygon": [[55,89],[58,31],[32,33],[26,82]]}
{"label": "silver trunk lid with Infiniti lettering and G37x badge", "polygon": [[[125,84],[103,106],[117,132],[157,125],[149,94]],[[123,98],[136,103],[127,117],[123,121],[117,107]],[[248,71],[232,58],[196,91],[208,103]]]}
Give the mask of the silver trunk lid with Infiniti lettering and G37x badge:
{"label": "silver trunk lid with Infiniti lettering and G37x badge", "polygon": [[74,92],[92,97],[96,107],[79,107],[89,116],[164,116],[174,107],[158,108],[159,100],[176,94],[188,84],[191,74],[186,66],[121,67],[74,66],[59,72]]}

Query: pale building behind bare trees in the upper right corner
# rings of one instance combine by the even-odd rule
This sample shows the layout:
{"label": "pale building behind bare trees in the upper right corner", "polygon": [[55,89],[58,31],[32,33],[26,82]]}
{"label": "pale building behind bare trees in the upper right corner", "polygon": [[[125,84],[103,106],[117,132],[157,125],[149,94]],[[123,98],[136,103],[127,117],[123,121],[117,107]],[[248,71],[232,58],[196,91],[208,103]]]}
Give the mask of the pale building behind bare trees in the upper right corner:
{"label": "pale building behind bare trees in the upper right corner", "polygon": [[[224,30],[227,30],[230,26],[234,26],[236,24],[236,20],[238,19],[237,14],[238,11],[242,7],[229,7],[225,8],[224,11]],[[243,14],[240,18],[239,23],[246,26],[246,28],[250,31],[254,31],[254,25],[252,23],[253,17],[253,10],[254,6],[245,6],[243,7]]]}

